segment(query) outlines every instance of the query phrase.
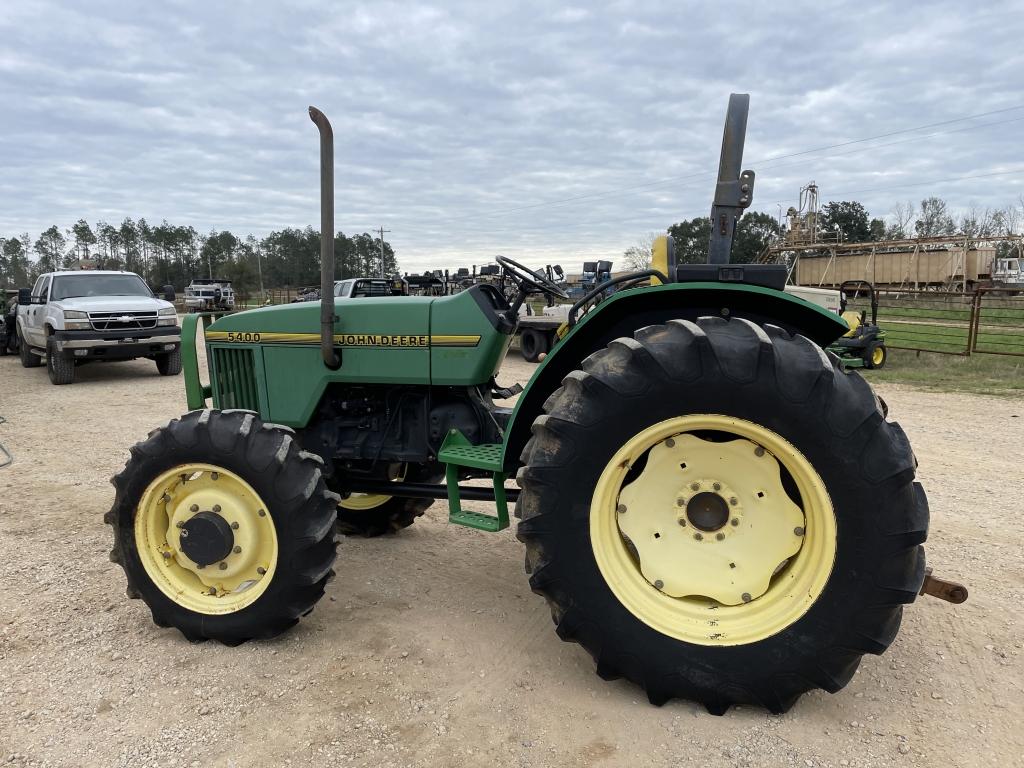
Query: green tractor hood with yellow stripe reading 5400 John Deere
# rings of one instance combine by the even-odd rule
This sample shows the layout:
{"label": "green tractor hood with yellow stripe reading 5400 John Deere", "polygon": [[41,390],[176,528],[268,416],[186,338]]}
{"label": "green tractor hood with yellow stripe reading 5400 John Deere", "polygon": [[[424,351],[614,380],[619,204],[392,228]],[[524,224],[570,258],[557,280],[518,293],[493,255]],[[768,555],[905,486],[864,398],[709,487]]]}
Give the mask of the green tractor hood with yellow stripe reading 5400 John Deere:
{"label": "green tractor hood with yellow stripe reading 5400 John Deere", "polygon": [[[334,343],[342,365],[331,371],[321,357],[319,311],[318,301],[297,302],[213,323],[206,342],[214,406],[255,409],[258,401],[263,418],[302,427],[332,383],[483,384],[511,343],[468,292],[335,299]],[[248,357],[240,362],[237,350],[243,349],[251,350],[252,383],[238,373],[250,365]],[[218,377],[218,366],[228,359],[231,375]]]}

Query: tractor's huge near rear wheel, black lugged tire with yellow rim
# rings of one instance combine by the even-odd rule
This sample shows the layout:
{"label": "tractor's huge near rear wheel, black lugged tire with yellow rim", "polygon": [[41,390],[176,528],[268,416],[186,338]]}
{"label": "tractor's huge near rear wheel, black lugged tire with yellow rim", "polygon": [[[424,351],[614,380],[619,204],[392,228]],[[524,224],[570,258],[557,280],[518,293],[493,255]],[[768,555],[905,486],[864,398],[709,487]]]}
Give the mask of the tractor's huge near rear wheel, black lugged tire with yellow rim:
{"label": "tractor's huge near rear wheel, black lugged tire with yellow rim", "polygon": [[545,411],[518,538],[559,636],[601,677],[656,705],[780,713],[895,638],[924,581],[916,462],[813,342],[741,318],[650,326]]}

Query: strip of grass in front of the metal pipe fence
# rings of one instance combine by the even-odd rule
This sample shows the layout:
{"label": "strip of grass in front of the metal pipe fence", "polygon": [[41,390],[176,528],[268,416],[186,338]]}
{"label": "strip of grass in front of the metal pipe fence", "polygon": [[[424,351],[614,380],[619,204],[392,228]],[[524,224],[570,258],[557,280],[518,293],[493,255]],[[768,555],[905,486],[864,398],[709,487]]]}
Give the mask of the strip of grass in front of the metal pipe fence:
{"label": "strip of grass in front of the metal pipe fence", "polygon": [[1020,396],[1024,392],[1024,357],[974,354],[957,357],[935,352],[890,349],[886,367],[864,371],[874,382],[907,384],[945,392]]}

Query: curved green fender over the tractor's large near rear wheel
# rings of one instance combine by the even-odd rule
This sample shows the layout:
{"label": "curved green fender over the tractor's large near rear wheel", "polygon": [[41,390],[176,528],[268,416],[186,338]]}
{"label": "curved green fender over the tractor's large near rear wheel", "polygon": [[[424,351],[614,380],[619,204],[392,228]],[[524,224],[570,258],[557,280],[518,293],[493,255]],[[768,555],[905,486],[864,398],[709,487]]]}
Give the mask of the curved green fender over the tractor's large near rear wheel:
{"label": "curved green fender over the tractor's large near rear wheel", "polygon": [[505,431],[503,463],[514,473],[545,400],[583,360],[613,339],[647,326],[703,316],[775,325],[826,346],[845,334],[839,315],[792,294],[741,283],[672,283],[616,293],[584,315],[548,353],[519,396]]}

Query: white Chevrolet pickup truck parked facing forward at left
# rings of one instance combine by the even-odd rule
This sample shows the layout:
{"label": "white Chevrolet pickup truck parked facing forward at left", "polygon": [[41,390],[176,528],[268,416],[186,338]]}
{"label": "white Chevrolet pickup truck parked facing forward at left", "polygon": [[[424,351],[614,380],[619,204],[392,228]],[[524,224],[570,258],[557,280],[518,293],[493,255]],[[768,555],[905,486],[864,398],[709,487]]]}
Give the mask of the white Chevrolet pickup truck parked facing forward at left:
{"label": "white Chevrolet pickup truck parked facing forward at left", "polygon": [[92,360],[156,360],[164,376],[181,373],[181,329],[174,289],[154,296],[134,272],[61,271],[40,275],[17,298],[17,335],[25,368],[43,359],[50,381],[71,384]]}

